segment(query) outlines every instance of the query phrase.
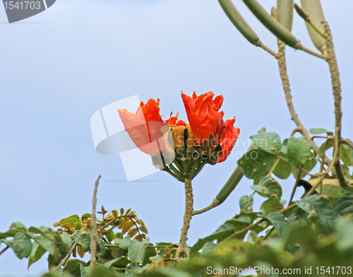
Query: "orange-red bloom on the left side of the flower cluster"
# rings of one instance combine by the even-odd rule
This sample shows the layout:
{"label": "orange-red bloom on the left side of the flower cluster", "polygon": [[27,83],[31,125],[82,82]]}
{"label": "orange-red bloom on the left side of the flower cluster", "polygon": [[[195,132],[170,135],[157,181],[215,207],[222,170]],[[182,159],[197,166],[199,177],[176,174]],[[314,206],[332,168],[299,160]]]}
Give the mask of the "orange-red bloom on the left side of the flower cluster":
{"label": "orange-red bloom on the left side of the flower cluster", "polygon": [[163,146],[160,146],[160,149],[157,143],[151,143],[160,139],[160,127],[166,125],[160,117],[159,106],[159,99],[150,99],[146,104],[140,102],[135,114],[125,109],[118,110],[125,131],[140,151],[148,155],[155,155],[164,149]]}

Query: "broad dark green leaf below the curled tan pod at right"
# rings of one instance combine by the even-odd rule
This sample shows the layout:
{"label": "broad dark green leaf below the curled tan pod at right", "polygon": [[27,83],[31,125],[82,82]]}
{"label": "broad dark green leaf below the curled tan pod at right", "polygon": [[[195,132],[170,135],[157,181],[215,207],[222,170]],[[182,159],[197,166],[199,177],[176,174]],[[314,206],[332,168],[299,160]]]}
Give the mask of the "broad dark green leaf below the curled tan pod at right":
{"label": "broad dark green leaf below the curled tan pod at right", "polygon": [[325,228],[333,229],[335,221],[337,220],[337,212],[335,208],[328,202],[321,198],[319,195],[311,195],[301,201],[297,201],[297,206],[306,213],[310,213]]}

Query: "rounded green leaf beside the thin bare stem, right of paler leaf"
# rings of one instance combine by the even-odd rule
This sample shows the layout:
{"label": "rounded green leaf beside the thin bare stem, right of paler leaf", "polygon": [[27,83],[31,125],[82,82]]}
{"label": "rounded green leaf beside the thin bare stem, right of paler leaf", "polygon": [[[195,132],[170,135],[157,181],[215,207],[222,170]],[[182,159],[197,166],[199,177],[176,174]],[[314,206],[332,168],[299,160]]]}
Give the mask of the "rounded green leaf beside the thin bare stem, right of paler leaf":
{"label": "rounded green leaf beside the thin bare stem, right of paler leaf", "polygon": [[304,165],[311,157],[311,144],[304,138],[288,139],[287,143],[287,158],[292,165]]}

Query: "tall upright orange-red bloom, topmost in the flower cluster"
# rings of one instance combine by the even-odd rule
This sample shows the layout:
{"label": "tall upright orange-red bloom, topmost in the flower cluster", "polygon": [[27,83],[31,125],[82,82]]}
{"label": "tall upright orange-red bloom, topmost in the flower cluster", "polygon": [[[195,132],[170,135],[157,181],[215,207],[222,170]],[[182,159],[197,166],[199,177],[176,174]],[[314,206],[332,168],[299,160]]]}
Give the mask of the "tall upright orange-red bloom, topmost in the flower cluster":
{"label": "tall upright orange-red bloom, topmost in the flower cluster", "polygon": [[193,98],[181,93],[193,138],[198,144],[207,141],[220,122],[218,110],[222,106],[223,96],[218,95],[215,99],[213,96],[211,91],[199,96],[193,92]]}

